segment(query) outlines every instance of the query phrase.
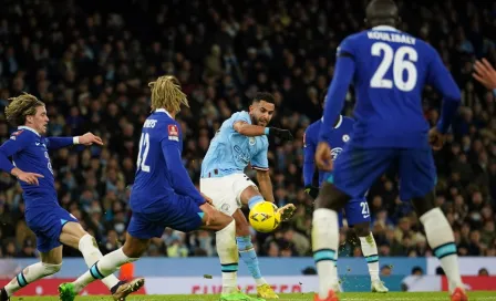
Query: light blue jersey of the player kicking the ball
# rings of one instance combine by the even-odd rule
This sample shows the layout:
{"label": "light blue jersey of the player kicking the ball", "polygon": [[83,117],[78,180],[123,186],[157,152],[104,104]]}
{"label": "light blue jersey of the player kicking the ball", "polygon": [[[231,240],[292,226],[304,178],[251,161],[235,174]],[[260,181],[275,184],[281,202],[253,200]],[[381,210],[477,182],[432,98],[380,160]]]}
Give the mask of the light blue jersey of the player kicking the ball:
{"label": "light blue jersey of the player kicking the ball", "polygon": [[232,126],[240,121],[251,124],[248,112],[232,114],[215,134],[202,163],[203,178],[240,174],[248,164],[255,169],[269,168],[267,136],[247,137],[239,134]]}

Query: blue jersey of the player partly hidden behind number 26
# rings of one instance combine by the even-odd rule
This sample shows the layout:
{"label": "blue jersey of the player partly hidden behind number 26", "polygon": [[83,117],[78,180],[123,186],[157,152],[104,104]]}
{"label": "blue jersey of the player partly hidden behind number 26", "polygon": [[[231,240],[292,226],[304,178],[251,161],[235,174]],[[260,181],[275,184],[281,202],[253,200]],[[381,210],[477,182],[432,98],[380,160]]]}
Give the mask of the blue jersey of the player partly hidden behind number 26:
{"label": "blue jersey of the player partly hidden behind number 26", "polygon": [[[344,144],[350,141],[350,134],[353,129],[354,121],[350,117],[341,116],[339,122],[335,124],[334,129],[327,139],[328,144],[331,146],[332,160],[335,160],[338,155],[343,150]],[[308,126],[304,131],[303,136],[303,152],[304,152],[304,165],[303,165],[303,180],[304,186],[313,184],[313,174],[316,172],[316,150],[319,144],[319,133],[322,126],[322,120],[319,120]],[[319,187],[322,181],[329,178],[330,172],[319,170]]]}

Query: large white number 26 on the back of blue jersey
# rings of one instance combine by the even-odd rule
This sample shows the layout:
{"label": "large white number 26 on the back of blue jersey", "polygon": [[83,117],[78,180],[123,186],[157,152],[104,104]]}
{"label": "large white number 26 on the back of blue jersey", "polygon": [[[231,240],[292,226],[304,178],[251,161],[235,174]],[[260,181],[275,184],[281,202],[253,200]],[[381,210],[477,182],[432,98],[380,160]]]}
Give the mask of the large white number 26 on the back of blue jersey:
{"label": "large white number 26 on the back of blue jersey", "polygon": [[[394,51],[391,45],[376,42],[372,44],[371,54],[382,56],[378,70],[370,80],[371,87],[393,89],[394,84],[397,90],[403,92],[410,92],[415,87],[417,71],[414,63],[418,60],[418,53],[414,48],[401,46]],[[393,65],[393,80],[384,79],[391,65]],[[406,72],[405,80],[404,72]]]}

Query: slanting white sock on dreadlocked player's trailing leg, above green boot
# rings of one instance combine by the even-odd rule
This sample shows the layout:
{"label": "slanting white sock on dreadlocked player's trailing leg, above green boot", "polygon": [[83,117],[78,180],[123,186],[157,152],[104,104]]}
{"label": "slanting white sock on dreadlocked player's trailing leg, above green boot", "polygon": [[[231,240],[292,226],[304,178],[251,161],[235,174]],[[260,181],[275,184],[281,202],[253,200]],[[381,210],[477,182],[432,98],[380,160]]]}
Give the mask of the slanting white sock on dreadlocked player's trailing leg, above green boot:
{"label": "slanting white sock on dreadlocked player's trailing leg, above green boot", "polygon": [[106,256],[102,257],[100,261],[97,261],[95,264],[93,264],[89,271],[83,273],[80,278],[78,278],[73,283],[75,286],[75,291],[80,292],[83,290],[84,287],[90,284],[96,279],[104,279],[108,274],[115,272],[122,264],[127,262],[136,261],[137,258],[130,258],[127,257],[122,248],[107,253]]}

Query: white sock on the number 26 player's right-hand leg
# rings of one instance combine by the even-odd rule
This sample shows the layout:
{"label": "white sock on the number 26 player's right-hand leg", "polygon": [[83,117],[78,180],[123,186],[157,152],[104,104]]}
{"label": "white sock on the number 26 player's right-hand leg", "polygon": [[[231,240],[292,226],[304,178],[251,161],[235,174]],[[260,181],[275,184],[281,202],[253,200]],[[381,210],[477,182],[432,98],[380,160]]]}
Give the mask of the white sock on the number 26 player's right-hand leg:
{"label": "white sock on the number 26 player's right-hand leg", "polygon": [[458,287],[463,288],[455,237],[443,211],[440,208],[435,208],[425,212],[420,219],[424,225],[427,242],[434,255],[440,259],[446,274],[450,291],[453,292]]}

